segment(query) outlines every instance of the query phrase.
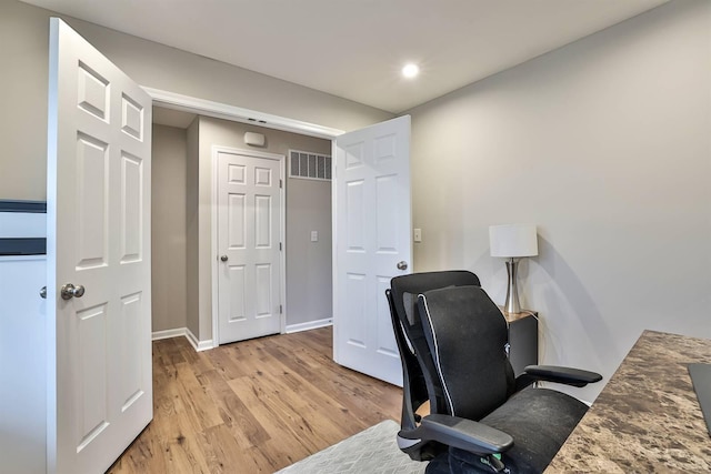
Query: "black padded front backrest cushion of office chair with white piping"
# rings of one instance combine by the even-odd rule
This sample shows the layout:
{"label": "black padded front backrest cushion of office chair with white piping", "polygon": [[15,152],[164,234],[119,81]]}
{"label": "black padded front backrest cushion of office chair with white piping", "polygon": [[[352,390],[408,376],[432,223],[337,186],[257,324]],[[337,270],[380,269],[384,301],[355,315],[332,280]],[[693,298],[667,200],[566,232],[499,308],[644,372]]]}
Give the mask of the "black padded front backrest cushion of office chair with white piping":
{"label": "black padded front backrest cushion of office chair with white piping", "polygon": [[502,405],[514,376],[495,303],[480,286],[459,286],[420,294],[418,309],[447,413],[478,421]]}

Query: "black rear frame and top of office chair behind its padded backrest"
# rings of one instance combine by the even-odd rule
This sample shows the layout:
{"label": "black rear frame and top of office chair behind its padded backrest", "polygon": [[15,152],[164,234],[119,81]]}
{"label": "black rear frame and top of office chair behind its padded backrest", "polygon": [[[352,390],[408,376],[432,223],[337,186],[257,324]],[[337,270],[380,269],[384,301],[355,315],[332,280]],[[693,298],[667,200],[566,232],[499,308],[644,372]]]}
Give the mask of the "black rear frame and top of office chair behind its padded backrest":
{"label": "black rear frame and top of office chair behind its padded backrest", "polygon": [[412,273],[391,280],[387,295],[403,369],[403,428],[414,427],[413,412],[428,400],[432,413],[445,413],[443,392],[420,323],[418,295],[429,290],[479,284],[475,274],[463,270]]}

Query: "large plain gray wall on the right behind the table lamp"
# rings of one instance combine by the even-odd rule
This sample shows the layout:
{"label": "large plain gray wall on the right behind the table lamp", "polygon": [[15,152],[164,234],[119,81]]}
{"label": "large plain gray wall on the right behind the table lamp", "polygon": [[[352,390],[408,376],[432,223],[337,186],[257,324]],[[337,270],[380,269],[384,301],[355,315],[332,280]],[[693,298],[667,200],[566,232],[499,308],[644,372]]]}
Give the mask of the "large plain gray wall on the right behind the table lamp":
{"label": "large plain gray wall on the right behind the table lamp", "polygon": [[535,223],[522,300],[542,362],[609,377],[644,329],[711,337],[711,2],[671,2],[410,113],[415,270],[470,269],[502,303],[488,226]]}

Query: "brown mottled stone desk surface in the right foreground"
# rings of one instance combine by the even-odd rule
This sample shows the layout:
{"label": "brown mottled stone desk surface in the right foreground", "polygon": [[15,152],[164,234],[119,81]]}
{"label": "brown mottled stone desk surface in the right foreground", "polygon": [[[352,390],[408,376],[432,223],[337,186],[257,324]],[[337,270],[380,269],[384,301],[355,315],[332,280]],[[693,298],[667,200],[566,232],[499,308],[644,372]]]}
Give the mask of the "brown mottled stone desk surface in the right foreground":
{"label": "brown mottled stone desk surface in the right foreground", "polygon": [[545,473],[711,472],[689,363],[711,340],[644,331]]}

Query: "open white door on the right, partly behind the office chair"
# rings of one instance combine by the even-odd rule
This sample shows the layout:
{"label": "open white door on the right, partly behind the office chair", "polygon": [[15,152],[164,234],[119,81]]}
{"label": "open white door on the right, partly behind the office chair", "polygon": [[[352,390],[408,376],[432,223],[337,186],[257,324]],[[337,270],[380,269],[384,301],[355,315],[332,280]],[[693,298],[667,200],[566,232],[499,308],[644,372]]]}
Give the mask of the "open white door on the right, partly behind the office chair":
{"label": "open white door on the right, partly behind the office chair", "polygon": [[338,137],[334,155],[333,360],[402,385],[385,290],[412,261],[410,115]]}

